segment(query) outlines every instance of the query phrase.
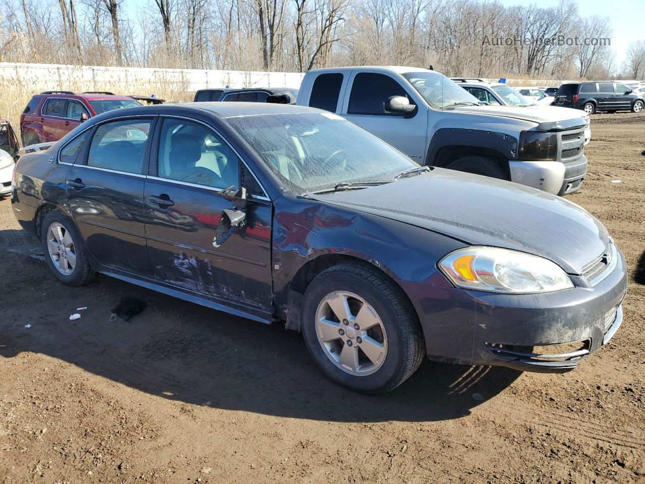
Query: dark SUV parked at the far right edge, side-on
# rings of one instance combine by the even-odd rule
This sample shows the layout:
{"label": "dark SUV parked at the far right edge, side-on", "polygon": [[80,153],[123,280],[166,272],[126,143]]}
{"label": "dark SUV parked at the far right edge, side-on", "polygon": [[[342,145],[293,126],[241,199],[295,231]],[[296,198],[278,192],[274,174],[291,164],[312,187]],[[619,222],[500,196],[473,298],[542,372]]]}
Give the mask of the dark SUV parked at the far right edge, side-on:
{"label": "dark SUV parked at the far right edge, side-on", "polygon": [[596,111],[641,112],[645,101],[642,96],[622,83],[602,81],[599,83],[563,84],[555,94],[551,106],[582,109],[586,114]]}

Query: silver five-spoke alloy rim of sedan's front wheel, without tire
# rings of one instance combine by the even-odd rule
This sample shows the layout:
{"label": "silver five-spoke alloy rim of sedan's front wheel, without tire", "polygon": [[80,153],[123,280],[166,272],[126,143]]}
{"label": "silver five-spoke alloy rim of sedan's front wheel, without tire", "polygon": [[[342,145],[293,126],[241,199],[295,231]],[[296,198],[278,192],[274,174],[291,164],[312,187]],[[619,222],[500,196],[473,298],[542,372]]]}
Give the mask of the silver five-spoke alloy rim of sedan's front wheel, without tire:
{"label": "silver five-spoke alloy rim of sedan's front wheel, without tire", "polygon": [[327,294],[316,310],[316,334],[327,357],[346,373],[364,376],[381,368],[388,351],[376,310],[353,292]]}

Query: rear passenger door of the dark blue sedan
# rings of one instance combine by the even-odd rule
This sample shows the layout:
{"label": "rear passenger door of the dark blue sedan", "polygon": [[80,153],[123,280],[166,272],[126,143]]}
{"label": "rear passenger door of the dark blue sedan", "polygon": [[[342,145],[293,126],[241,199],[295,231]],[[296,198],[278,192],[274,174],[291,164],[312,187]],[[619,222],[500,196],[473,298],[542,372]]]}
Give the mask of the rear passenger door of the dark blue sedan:
{"label": "rear passenger door of the dark blue sedan", "polygon": [[108,270],[134,276],[150,276],[143,188],[154,121],[126,117],[92,129],[86,154],[66,181],[70,211],[90,254]]}

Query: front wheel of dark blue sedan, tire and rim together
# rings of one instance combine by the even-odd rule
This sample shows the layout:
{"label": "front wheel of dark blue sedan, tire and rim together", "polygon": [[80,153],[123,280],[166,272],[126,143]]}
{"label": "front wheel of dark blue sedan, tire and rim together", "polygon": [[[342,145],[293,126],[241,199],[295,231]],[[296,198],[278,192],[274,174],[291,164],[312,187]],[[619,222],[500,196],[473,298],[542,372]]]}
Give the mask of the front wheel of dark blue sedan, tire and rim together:
{"label": "front wheel of dark blue sedan, tire and rim together", "polygon": [[385,393],[419,368],[426,354],[417,314],[377,269],[330,267],[304,295],[303,336],[312,358],[333,381],[364,393]]}

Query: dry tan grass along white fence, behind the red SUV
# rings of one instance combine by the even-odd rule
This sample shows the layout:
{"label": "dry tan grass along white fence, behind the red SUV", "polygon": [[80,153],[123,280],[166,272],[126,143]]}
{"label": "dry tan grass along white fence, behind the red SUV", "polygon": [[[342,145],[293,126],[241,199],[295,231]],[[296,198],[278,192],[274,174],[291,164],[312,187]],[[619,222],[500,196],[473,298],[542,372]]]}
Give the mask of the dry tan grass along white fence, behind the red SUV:
{"label": "dry tan grass along white fence, behind the red SUV", "polygon": [[[98,90],[90,83],[72,83],[71,85],[57,86],[57,89],[84,92]],[[52,88],[49,88],[50,90]],[[25,83],[11,82],[6,80],[0,81],[0,92],[3,95],[0,97],[0,119],[8,119],[13,126],[18,139],[20,139],[20,115],[25,109],[25,106],[34,94],[43,92],[45,88],[42,86],[27,85]],[[119,83],[118,85],[110,85],[106,83],[101,86],[100,90],[114,92],[114,94],[149,96],[155,94],[161,99],[166,101],[183,103],[192,101],[194,92],[188,90],[187,86],[177,83]]]}

